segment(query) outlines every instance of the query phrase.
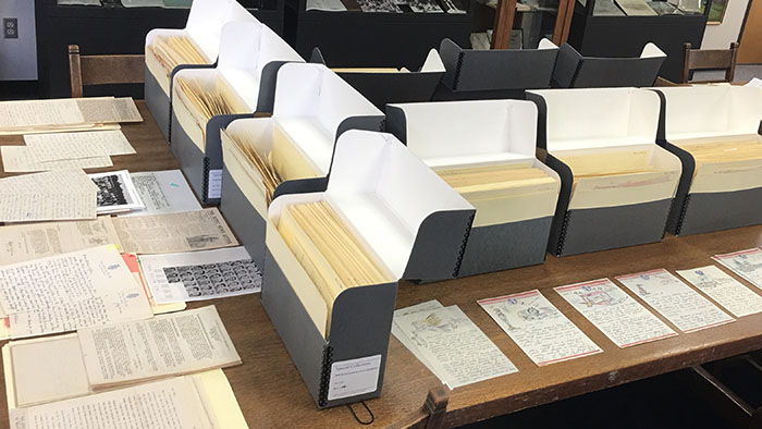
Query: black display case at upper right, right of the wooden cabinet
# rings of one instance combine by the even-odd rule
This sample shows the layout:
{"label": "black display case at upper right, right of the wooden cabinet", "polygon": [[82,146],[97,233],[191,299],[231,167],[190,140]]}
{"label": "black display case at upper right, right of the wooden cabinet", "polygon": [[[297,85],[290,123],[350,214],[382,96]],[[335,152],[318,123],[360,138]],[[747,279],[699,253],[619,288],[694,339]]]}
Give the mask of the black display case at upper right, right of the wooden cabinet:
{"label": "black display case at upper right, right of the wooden cabinet", "polygon": [[[677,82],[683,71],[683,44],[701,46],[708,16],[702,10],[690,12],[681,7],[666,1],[578,0],[568,42],[586,57],[638,57],[646,44],[653,42],[667,56],[660,76]],[[711,0],[703,11],[710,9]]]}

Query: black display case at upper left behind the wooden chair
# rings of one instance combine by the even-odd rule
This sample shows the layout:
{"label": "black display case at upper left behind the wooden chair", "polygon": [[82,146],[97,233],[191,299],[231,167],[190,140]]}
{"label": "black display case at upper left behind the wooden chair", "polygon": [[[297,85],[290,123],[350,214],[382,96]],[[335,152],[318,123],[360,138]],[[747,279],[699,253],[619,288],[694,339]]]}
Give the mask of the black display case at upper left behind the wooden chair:
{"label": "black display case at upper left behind the wooden chair", "polygon": [[[59,1],[36,1],[37,65],[41,97],[71,95],[69,45],[78,45],[84,56],[143,54],[148,32],[153,28],[183,28],[188,19],[188,8],[176,7],[181,0],[164,0],[172,8],[125,8],[120,0],[101,0],[101,5],[59,4]],[[238,0],[255,17],[278,34],[283,32],[283,1]],[[85,96],[106,95],[143,98],[143,86],[132,84],[85,88]]]}

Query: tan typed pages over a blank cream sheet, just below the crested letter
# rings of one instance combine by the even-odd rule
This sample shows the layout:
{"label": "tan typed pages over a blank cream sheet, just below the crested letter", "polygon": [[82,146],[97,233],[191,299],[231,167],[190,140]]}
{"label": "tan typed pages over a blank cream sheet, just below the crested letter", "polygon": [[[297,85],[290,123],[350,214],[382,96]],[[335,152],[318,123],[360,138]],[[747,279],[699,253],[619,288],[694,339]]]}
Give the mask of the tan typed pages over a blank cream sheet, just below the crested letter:
{"label": "tan typed pages over a blank cream sheet, just below the crested letter", "polygon": [[[12,369],[16,406],[241,364],[213,306],[82,329],[76,334],[14,341],[7,348],[3,360]],[[172,353],[167,354],[170,348]]]}

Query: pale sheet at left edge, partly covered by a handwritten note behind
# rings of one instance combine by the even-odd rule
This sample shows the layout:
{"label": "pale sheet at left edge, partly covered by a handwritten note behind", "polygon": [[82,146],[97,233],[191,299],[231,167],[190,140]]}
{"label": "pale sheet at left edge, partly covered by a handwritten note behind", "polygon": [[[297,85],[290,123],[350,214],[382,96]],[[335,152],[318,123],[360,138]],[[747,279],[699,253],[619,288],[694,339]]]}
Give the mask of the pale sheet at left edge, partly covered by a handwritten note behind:
{"label": "pale sheet at left edge, partly covered by a handwritten note behind", "polygon": [[7,173],[28,173],[36,171],[64,171],[81,169],[101,169],[112,167],[109,157],[88,157],[78,159],[59,159],[44,161],[37,152],[26,146],[0,146],[3,171]]}

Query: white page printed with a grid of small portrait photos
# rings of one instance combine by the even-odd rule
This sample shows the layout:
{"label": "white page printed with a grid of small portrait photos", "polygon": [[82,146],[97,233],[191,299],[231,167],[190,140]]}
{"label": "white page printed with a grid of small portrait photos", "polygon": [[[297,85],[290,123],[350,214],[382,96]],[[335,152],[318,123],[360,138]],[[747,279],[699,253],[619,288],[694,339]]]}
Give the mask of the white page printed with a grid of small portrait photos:
{"label": "white page printed with a grid of small portrait photos", "polygon": [[262,274],[243,246],[146,255],[140,267],[159,304],[251,294],[262,285]]}

